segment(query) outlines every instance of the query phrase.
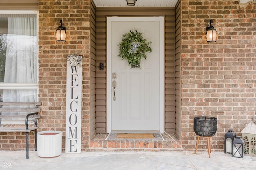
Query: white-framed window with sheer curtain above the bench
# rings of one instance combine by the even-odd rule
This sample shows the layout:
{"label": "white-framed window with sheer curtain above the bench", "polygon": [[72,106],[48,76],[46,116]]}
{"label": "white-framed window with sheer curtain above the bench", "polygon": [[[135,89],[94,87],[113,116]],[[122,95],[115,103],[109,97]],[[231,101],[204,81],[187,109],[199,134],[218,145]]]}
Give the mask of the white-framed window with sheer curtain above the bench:
{"label": "white-framed window with sheer curtain above the bench", "polygon": [[36,101],[38,12],[0,10],[0,102]]}

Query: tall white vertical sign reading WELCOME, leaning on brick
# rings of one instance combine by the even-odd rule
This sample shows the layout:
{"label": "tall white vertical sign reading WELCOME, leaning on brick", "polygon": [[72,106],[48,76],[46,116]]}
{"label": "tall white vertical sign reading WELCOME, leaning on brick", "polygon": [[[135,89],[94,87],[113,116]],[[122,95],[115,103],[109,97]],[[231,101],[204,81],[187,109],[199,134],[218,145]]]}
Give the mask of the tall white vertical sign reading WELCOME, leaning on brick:
{"label": "tall white vertical sign reading WELCOME, leaning on brick", "polygon": [[67,57],[66,153],[81,152],[82,56]]}

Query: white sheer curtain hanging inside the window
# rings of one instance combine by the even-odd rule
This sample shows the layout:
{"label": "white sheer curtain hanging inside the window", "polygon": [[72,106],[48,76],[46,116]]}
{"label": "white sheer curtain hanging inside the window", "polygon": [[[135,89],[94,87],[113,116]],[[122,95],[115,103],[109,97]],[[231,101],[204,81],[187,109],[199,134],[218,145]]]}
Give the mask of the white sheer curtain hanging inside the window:
{"label": "white sheer curtain hanging inside the window", "polygon": [[[4,83],[36,83],[36,18],[8,18]],[[35,102],[36,90],[4,90],[3,102]]]}

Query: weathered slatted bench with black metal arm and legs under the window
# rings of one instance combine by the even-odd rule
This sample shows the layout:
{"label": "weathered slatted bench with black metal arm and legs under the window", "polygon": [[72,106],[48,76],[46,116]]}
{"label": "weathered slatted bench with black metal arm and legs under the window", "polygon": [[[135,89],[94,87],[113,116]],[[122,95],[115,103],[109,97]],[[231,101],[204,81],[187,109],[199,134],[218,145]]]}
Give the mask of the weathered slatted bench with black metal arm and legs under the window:
{"label": "weathered slatted bench with black metal arm and legs under the window", "polygon": [[[39,112],[41,102],[0,102],[0,132],[26,132],[26,158],[28,159],[28,133],[34,131],[35,135],[35,149],[37,150],[37,141],[36,141],[36,129],[37,119],[40,118]],[[21,106],[22,108],[5,108],[3,106]],[[33,108],[30,108],[34,106]],[[27,112],[28,114],[24,115],[2,115],[3,112],[17,113],[17,112]],[[2,119],[24,119],[24,126],[20,124],[8,124],[2,125]],[[18,126],[18,127],[17,127]]]}

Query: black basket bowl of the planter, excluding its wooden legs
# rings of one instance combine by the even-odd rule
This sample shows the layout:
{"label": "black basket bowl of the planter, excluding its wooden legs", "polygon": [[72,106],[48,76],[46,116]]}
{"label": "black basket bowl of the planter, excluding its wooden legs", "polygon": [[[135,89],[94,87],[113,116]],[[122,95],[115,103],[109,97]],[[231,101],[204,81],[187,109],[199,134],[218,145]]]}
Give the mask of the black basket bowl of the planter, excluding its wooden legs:
{"label": "black basket bowl of the planter, excluding its wooden legs", "polygon": [[217,118],[209,116],[194,117],[194,131],[199,136],[213,136],[217,131]]}

